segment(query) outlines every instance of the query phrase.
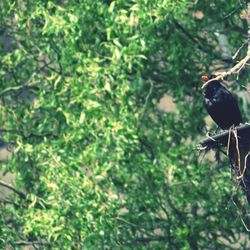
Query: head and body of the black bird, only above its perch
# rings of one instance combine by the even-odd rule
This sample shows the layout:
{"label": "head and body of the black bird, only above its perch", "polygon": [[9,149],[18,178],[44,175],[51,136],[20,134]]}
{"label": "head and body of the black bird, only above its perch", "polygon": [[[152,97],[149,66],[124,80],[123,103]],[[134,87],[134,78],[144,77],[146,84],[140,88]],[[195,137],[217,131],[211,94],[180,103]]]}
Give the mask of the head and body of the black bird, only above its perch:
{"label": "head and body of the black bird, only above its perch", "polygon": [[[203,81],[214,78],[202,77]],[[205,86],[205,107],[207,112],[221,129],[229,129],[242,123],[240,109],[233,94],[219,80],[213,80]]]}

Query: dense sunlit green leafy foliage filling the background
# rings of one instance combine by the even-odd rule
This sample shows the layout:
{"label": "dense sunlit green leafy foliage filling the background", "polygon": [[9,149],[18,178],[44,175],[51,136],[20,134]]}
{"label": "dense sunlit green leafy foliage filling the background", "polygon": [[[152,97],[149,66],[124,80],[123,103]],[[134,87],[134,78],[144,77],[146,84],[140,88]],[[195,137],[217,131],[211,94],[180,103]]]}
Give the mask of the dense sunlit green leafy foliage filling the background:
{"label": "dense sunlit green leafy foliage filling the background", "polygon": [[[247,237],[229,164],[201,162],[195,149],[199,78],[220,58],[213,29],[232,30],[238,48],[238,6],[1,3],[0,121],[14,151],[1,169],[22,192],[1,205],[1,248],[221,249]],[[164,94],[176,112],[158,110]]]}

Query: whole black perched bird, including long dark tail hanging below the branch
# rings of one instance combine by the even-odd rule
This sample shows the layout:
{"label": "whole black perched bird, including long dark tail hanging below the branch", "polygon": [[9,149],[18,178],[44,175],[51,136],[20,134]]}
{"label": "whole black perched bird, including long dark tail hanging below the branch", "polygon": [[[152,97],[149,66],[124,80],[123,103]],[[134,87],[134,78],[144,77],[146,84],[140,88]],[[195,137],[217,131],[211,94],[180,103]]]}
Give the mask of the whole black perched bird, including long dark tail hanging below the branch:
{"label": "whole black perched bird, including long dark tail hanging below the branch", "polygon": [[[205,107],[221,129],[229,129],[242,123],[242,117],[233,94],[215,76],[203,76]],[[231,132],[227,145],[228,157],[235,180],[241,185],[250,205],[250,144],[249,138]]]}

